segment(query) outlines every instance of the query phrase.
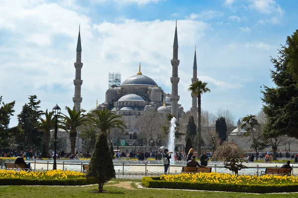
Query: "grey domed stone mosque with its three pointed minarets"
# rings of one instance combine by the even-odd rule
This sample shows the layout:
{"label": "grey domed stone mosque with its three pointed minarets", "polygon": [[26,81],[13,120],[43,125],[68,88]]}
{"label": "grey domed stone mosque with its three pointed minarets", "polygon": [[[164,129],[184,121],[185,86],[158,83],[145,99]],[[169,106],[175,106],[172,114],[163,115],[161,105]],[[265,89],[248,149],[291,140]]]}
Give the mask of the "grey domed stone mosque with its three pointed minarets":
{"label": "grey domed stone mosque with its three pointed minarets", "polygon": [[[81,97],[81,41],[80,31],[78,33],[77,47],[76,47],[76,62],[75,67],[75,79],[74,79],[74,107],[80,109]],[[111,139],[114,139],[114,144],[117,138],[121,139],[121,146],[138,146],[142,143],[138,142],[139,130],[136,125],[138,119],[144,116],[158,117],[158,120],[166,122],[167,114],[174,115],[179,122],[186,120],[190,116],[194,116],[197,120],[197,97],[192,96],[192,108],[187,113],[184,112],[184,108],[181,104],[178,104],[178,83],[180,78],[178,77],[178,66],[180,61],[178,60],[178,34],[177,34],[177,22],[174,33],[173,43],[173,56],[170,60],[172,65],[172,76],[169,76],[169,80],[172,83],[172,93],[166,93],[158,84],[149,76],[144,75],[141,71],[141,63],[139,65],[139,71],[136,75],[133,75],[122,82],[120,86],[111,86],[105,93],[105,101],[102,104],[97,104],[90,109],[89,113],[94,110],[100,110],[103,108],[109,109],[116,115],[121,115],[123,122],[128,129],[124,135],[116,137],[113,135]],[[197,62],[196,62],[196,50],[193,65],[193,76],[191,81],[194,82],[197,78]],[[161,128],[161,127],[160,127]],[[186,132],[186,130],[185,130]],[[184,132],[184,133],[185,133]],[[154,137],[156,140],[157,137]],[[184,148],[185,139],[183,135],[176,140],[176,145],[180,146],[180,149]],[[155,145],[156,147],[156,145]]]}

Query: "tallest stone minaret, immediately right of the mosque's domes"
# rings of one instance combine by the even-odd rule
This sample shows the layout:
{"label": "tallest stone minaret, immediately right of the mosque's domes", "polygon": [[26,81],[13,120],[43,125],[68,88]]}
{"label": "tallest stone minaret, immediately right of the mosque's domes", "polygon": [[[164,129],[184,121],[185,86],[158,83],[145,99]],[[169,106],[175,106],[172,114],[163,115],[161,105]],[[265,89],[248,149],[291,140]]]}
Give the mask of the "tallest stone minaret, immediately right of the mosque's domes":
{"label": "tallest stone minaret, immediately right of the mosque's domes", "polygon": [[173,116],[176,116],[178,119],[178,101],[180,96],[178,96],[178,66],[180,61],[178,60],[178,36],[177,36],[177,20],[176,20],[176,28],[175,28],[175,37],[174,37],[174,44],[173,44],[173,59],[171,60],[172,64],[172,77],[171,83],[172,83],[172,93],[170,96],[171,99],[171,114]]}

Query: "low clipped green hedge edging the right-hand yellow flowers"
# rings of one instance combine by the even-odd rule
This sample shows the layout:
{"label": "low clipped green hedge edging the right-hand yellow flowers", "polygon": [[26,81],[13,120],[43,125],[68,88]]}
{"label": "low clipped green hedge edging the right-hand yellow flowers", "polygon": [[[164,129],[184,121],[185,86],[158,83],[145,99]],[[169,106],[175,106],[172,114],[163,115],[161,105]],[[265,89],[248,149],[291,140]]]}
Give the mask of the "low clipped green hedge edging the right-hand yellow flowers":
{"label": "low clipped green hedge edging the right-hand yellow flowers", "polygon": [[143,177],[142,183],[147,188],[158,189],[189,189],[204,191],[224,191],[239,193],[285,193],[298,192],[298,184],[293,185],[243,185],[243,184],[214,184],[214,183],[193,183],[163,181],[160,177]]}

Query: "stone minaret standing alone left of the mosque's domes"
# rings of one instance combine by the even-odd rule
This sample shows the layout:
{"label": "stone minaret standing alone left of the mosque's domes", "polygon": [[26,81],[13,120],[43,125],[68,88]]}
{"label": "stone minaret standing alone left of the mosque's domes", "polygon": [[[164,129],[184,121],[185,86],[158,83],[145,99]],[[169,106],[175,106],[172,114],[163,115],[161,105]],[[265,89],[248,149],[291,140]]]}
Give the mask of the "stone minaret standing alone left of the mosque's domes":
{"label": "stone minaret standing alone left of the mosque's domes", "polygon": [[74,79],[74,108],[80,110],[80,103],[82,102],[81,98],[81,85],[83,80],[81,80],[81,68],[83,64],[81,63],[81,43],[80,43],[80,27],[78,27],[78,38],[77,38],[77,45],[76,45],[76,62],[74,63],[75,67],[75,79]]}

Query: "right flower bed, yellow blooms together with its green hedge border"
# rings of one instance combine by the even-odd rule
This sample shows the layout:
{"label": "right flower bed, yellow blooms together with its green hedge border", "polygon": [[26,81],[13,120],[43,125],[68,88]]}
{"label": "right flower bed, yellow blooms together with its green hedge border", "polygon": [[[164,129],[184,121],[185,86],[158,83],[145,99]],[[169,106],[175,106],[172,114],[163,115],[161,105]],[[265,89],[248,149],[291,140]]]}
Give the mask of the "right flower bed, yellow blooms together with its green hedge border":
{"label": "right flower bed, yellow blooms together with its green hedge border", "polygon": [[196,173],[143,177],[148,188],[191,189],[243,193],[298,192],[298,178],[294,176],[248,176],[224,173]]}

